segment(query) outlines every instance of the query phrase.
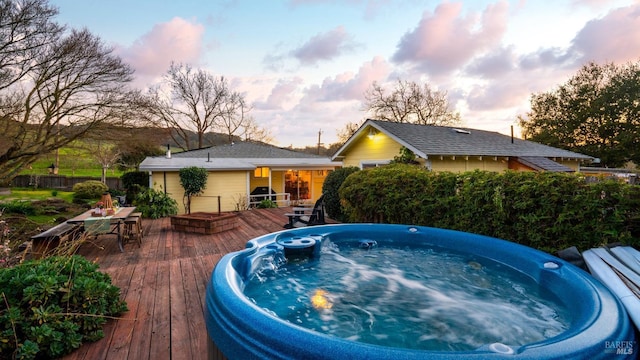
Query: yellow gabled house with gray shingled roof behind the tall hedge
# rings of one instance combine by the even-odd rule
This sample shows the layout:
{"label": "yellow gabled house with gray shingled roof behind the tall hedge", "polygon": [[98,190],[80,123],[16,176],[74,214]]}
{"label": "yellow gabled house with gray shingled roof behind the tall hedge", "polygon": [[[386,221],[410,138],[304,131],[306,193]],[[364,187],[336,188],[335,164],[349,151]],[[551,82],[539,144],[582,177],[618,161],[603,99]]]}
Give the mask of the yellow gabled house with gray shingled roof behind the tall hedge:
{"label": "yellow gabled house with gray shingled roof behind the tall hedge", "polygon": [[333,155],[344,167],[388,164],[411,150],[433,171],[579,171],[593,157],[497,132],[367,120]]}

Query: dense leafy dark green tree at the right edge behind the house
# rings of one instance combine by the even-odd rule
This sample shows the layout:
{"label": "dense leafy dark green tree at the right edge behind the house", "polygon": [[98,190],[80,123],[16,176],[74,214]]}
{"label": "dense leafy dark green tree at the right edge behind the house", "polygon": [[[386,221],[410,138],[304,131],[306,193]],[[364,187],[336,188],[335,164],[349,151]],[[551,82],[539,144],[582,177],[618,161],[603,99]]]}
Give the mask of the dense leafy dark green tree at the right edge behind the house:
{"label": "dense leafy dark green tree at the right edge behind the house", "polygon": [[584,65],[557,89],[531,96],[519,116],[529,139],[600,158],[603,166],[640,163],[638,63]]}

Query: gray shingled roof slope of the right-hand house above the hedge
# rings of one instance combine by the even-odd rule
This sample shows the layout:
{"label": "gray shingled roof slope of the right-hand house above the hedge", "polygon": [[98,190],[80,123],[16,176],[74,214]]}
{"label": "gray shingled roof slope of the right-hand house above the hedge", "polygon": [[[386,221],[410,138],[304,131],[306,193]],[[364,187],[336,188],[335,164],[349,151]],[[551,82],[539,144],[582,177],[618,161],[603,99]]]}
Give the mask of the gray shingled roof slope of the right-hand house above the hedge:
{"label": "gray shingled roof slope of the right-hand house above the hedge", "polygon": [[[593,159],[591,156],[514,138],[497,132],[367,120],[414,152],[424,155],[481,155]],[[365,123],[366,124],[366,123]],[[413,148],[413,149],[412,149]]]}

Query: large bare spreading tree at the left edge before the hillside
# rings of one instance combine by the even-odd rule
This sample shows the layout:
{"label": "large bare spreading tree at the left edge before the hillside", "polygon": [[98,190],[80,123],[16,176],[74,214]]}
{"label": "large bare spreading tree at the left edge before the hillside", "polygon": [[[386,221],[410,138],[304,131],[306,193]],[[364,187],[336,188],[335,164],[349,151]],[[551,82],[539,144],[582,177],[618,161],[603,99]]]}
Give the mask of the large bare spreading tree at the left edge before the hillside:
{"label": "large bare spreading tree at the left edge before the hillside", "polygon": [[0,183],[98,124],[129,116],[132,93],[126,84],[132,70],[87,30],[60,35],[52,34],[55,39],[28,52],[32,57],[23,63],[4,68],[5,75],[14,74],[10,81],[28,71],[19,81],[0,86]]}

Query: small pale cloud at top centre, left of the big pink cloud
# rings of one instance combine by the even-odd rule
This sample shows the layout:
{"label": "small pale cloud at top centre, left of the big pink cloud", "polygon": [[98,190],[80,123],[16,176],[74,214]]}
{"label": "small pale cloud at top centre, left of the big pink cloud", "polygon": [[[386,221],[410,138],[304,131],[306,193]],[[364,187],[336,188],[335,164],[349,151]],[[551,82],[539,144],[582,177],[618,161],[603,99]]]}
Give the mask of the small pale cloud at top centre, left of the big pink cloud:
{"label": "small pale cloud at top centre, left of the big pink cloud", "polygon": [[356,47],[344,27],[338,26],[312,37],[301,47],[293,50],[291,55],[303,65],[313,65],[322,60],[331,60]]}

